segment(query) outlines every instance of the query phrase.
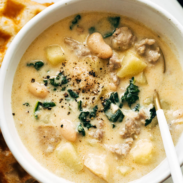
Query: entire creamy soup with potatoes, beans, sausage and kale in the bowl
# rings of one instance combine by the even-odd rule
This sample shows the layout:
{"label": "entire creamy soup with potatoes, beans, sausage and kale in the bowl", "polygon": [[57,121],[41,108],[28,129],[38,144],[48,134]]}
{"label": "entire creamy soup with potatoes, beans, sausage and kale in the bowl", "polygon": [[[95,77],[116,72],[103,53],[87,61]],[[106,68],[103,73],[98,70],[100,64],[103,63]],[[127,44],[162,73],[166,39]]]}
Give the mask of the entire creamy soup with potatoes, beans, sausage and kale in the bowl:
{"label": "entire creamy soup with potatoes, beans, sausage and kale in the bowl", "polygon": [[15,74],[18,133],[42,166],[73,182],[130,182],[164,148],[157,89],[174,142],[183,130],[182,69],[160,36],[109,13],[68,17],[27,49]]}

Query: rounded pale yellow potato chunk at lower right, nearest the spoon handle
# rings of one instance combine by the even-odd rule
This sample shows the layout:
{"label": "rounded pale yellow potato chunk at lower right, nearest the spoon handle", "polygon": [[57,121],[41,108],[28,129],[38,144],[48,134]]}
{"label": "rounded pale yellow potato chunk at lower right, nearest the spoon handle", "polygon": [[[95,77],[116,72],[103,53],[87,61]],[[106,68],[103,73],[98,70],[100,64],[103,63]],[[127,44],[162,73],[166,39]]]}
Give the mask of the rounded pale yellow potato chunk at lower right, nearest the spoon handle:
{"label": "rounded pale yellow potato chunk at lower right, nearest the spoon handle", "polygon": [[153,157],[153,144],[150,140],[143,139],[137,142],[137,145],[130,151],[135,163],[148,164]]}

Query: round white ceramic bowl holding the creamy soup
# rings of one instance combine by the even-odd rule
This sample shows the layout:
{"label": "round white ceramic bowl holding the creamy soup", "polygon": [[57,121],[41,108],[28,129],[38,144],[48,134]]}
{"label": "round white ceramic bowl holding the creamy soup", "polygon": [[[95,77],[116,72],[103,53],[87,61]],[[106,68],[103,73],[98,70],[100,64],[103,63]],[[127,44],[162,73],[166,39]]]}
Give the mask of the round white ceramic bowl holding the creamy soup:
{"label": "round white ceramic bowl holding the creamy soup", "polygon": [[[42,167],[23,145],[15,128],[11,109],[11,92],[18,63],[32,41],[59,20],[83,11],[107,11],[131,17],[154,30],[175,50],[183,66],[183,27],[165,10],[147,0],[62,0],[33,18],[15,37],[1,68],[0,117],[2,133],[10,150],[22,167],[39,182],[69,182]],[[175,47],[174,47],[175,45]],[[179,162],[183,162],[183,135],[176,146]],[[161,182],[170,174],[165,159],[152,172],[135,183]]]}

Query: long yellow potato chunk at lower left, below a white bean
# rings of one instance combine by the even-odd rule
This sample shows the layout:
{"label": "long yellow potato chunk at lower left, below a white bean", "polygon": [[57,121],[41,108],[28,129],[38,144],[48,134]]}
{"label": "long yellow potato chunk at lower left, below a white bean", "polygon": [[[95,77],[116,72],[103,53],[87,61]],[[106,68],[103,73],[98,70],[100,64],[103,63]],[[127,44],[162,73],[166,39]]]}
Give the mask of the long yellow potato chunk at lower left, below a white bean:
{"label": "long yellow potato chunk at lower left, below a white bean", "polygon": [[56,149],[56,156],[60,161],[77,172],[83,169],[83,163],[71,143],[61,144]]}

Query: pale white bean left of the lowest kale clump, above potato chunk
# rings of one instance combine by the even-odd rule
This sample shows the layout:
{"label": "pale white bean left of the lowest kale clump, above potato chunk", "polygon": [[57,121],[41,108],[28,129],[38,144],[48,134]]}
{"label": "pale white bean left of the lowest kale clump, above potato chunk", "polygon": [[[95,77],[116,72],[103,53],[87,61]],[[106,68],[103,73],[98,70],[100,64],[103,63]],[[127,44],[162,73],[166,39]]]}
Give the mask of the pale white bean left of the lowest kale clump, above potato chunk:
{"label": "pale white bean left of the lowest kale clump, above potato chunk", "polygon": [[61,121],[61,125],[59,128],[60,128],[60,132],[61,132],[62,136],[66,140],[71,141],[71,142],[76,141],[77,133],[76,133],[71,121],[63,119]]}

